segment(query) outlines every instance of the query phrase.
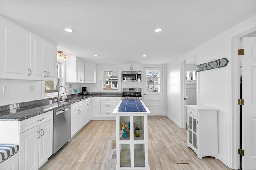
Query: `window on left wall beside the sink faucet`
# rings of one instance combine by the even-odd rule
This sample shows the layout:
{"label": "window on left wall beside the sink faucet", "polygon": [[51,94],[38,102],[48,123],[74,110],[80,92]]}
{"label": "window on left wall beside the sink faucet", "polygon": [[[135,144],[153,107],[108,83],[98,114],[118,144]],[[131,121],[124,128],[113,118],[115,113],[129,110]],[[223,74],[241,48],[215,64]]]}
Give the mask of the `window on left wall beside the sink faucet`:
{"label": "window on left wall beside the sink faucet", "polygon": [[61,79],[61,64],[56,65],[56,75],[57,79],[54,81],[44,81],[44,94],[45,96],[57,95],[58,87],[60,86]]}

